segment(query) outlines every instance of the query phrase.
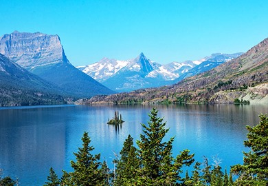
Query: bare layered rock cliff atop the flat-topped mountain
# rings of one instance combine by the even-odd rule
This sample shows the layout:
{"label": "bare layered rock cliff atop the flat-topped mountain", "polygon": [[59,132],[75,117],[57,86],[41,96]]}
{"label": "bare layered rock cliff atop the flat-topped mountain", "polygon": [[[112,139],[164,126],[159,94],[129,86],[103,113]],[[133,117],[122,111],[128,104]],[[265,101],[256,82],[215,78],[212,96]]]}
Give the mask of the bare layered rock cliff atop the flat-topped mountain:
{"label": "bare layered rock cliff atop the flat-topped mountain", "polygon": [[58,35],[40,32],[4,34],[0,37],[0,53],[27,70],[42,65],[69,63]]}

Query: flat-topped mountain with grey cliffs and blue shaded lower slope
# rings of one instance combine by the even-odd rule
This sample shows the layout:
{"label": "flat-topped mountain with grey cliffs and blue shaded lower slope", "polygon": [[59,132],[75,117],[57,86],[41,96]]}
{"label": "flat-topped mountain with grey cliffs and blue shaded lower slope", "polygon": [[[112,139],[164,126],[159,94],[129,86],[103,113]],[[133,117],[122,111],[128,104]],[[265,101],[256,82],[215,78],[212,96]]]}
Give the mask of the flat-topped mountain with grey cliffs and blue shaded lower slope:
{"label": "flat-topped mountain with grey cliffs and blue shaded lower slope", "polygon": [[75,68],[58,35],[13,32],[0,37],[0,53],[78,98],[114,92]]}

